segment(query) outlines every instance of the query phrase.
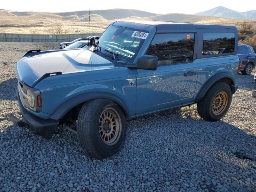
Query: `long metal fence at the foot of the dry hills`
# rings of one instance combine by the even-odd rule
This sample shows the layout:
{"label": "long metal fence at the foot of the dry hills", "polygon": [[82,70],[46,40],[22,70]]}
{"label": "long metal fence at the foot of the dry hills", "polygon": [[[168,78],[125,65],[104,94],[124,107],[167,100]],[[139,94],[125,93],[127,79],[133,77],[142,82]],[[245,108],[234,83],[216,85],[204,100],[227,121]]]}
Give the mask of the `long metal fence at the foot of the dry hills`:
{"label": "long metal fence at the foot of the dry hills", "polygon": [[[64,34],[64,35],[42,35],[42,34],[11,34],[0,33],[0,42],[35,42],[56,43],[71,42],[77,38],[86,38],[88,34]],[[90,36],[101,36],[101,33],[90,33]]]}

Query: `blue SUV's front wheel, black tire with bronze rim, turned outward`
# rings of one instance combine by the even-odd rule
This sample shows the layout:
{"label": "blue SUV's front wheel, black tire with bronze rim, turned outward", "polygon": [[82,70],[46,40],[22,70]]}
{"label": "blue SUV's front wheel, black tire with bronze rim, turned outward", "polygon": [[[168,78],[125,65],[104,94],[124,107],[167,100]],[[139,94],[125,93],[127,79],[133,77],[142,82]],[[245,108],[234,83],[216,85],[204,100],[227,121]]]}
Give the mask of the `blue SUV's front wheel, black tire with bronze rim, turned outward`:
{"label": "blue SUV's front wheel, black tire with bronze rim, turned outward", "polygon": [[117,153],[126,136],[122,108],[107,99],[85,103],[78,115],[77,135],[80,146],[92,158],[104,159]]}

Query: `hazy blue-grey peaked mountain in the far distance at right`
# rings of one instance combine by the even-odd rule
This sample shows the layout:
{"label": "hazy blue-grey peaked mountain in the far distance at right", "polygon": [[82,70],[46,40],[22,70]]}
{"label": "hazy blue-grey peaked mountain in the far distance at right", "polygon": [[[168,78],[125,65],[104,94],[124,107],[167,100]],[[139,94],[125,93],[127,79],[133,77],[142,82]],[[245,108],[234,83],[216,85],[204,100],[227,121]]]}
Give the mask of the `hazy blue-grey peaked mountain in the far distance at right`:
{"label": "hazy blue-grey peaked mountain in the far distance at right", "polygon": [[236,19],[256,19],[256,10],[247,11],[247,12],[238,12],[226,7],[218,6],[216,8],[199,12],[195,15],[200,16],[213,16],[213,17],[222,17],[222,18],[236,18]]}

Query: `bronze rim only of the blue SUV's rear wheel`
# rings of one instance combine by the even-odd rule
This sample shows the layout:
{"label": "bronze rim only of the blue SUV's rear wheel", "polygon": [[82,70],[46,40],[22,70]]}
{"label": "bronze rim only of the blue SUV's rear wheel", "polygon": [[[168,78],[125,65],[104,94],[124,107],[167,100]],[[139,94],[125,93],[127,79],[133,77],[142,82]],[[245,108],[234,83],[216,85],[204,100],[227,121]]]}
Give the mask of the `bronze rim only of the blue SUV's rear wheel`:
{"label": "bronze rim only of the blue SUV's rear wheel", "polygon": [[228,105],[228,94],[224,91],[219,92],[212,102],[212,112],[214,115],[220,115]]}

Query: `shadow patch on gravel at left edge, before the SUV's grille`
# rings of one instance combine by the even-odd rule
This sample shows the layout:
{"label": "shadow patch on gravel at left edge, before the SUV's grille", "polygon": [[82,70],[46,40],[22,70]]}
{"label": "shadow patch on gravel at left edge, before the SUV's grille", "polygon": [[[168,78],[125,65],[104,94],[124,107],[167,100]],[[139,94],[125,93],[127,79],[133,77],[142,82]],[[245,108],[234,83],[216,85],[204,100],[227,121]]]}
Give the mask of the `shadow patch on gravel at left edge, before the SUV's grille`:
{"label": "shadow patch on gravel at left edge, before the SUV's grille", "polygon": [[17,88],[17,78],[8,79],[0,83],[0,99],[2,100],[16,100],[15,92]]}

